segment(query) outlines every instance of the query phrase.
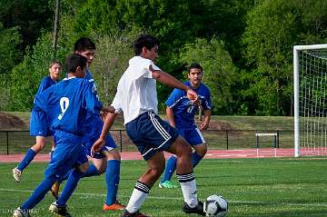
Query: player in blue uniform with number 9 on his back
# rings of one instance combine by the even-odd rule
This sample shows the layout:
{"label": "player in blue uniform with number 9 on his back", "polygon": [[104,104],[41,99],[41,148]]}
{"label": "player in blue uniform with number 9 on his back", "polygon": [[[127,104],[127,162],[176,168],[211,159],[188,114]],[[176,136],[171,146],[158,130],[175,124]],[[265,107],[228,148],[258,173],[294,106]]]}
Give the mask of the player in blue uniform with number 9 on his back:
{"label": "player in blue uniform with number 9 on his back", "polygon": [[[53,158],[45,169],[45,179],[36,187],[35,192],[14,212],[14,217],[30,216],[31,210],[41,202],[51,186],[61,181],[63,176],[74,167],[66,187],[65,198],[59,197],[54,202],[53,212],[60,216],[71,216],[66,210],[65,202],[77,185],[78,178],[88,170],[89,163],[83,143],[83,131],[86,113],[96,113],[102,104],[94,94],[93,84],[83,77],[87,70],[86,58],[80,54],[72,54],[66,59],[67,78],[49,87],[43,94],[35,98],[35,111],[44,111],[51,121],[54,132],[55,149]],[[74,188],[72,188],[74,185]]]}

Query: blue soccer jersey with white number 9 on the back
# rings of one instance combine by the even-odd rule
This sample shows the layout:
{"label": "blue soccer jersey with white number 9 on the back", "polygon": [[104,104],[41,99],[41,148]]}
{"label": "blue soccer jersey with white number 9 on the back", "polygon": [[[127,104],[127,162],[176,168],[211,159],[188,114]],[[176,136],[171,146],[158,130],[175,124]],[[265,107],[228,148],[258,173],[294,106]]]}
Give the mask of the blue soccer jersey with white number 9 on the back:
{"label": "blue soccer jersey with white number 9 on the back", "polygon": [[75,135],[83,135],[86,113],[101,108],[93,84],[82,78],[65,78],[35,98],[35,110],[48,115],[51,130]]}

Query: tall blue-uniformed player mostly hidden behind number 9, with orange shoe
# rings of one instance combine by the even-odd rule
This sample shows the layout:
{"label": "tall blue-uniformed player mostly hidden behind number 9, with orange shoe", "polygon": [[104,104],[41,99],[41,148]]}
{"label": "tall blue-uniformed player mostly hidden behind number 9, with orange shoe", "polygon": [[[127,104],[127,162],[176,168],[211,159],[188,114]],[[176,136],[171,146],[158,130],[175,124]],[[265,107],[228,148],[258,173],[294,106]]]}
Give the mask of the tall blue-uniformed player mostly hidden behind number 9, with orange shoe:
{"label": "tall blue-uniformed player mostly hidden behind number 9, with orange shoe", "polygon": [[[89,67],[90,64],[92,64],[94,61],[95,44],[91,39],[82,37],[75,42],[74,53],[83,55],[87,59],[87,64]],[[89,68],[86,71],[85,79],[87,79],[90,84],[94,85],[94,89],[96,90],[96,85]],[[105,172],[107,194],[103,210],[123,210],[124,205],[118,202],[116,198],[120,181],[120,153],[116,150],[117,146],[114,143],[113,137],[108,134],[105,140],[106,144],[101,152],[91,156],[91,147],[99,138],[104,122],[100,116],[100,111],[98,111],[98,113],[87,113],[86,120],[87,122],[84,128],[83,143],[86,149],[86,153],[93,164],[90,165],[90,168],[87,173],[85,173],[84,177],[100,175]],[[56,185],[57,184],[58,183],[56,183]],[[58,187],[54,188],[58,189]]]}

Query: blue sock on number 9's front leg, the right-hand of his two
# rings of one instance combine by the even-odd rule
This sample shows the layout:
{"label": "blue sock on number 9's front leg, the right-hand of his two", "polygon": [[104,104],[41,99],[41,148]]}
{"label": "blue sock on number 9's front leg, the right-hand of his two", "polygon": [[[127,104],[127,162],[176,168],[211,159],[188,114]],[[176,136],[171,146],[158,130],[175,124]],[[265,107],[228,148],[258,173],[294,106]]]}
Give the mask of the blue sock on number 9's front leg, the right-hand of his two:
{"label": "blue sock on number 9's front leg, the right-hand of his two", "polygon": [[78,169],[73,170],[73,172],[69,175],[66,184],[64,185],[63,192],[59,196],[57,202],[59,206],[64,206],[66,204],[66,202],[74,192],[74,189],[76,188],[78,181],[83,176],[84,173],[80,172]]}

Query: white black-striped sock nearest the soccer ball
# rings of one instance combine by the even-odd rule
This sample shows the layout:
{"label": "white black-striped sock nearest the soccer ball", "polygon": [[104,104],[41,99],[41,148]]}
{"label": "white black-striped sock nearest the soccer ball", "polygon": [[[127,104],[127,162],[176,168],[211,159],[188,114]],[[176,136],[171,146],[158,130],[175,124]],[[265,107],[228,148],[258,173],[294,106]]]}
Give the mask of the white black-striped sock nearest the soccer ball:
{"label": "white black-striped sock nearest the soccer ball", "polygon": [[177,174],[177,179],[181,184],[184,202],[191,208],[195,207],[198,204],[198,200],[194,173]]}

